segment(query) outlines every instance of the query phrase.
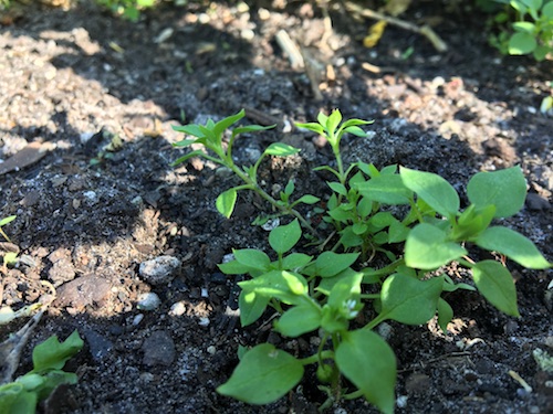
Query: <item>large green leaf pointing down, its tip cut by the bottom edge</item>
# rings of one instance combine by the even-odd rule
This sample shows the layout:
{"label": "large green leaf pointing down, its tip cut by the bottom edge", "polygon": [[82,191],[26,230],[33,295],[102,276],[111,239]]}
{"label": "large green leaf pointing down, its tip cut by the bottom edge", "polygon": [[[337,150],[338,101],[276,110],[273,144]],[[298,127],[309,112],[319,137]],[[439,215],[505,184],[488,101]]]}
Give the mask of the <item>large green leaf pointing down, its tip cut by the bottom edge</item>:
{"label": "large green leaf pointing down, its tip cut by the bottom edge", "polygon": [[344,332],[336,349],[340,371],[383,413],[394,413],[397,363],[394,351],[375,332]]}

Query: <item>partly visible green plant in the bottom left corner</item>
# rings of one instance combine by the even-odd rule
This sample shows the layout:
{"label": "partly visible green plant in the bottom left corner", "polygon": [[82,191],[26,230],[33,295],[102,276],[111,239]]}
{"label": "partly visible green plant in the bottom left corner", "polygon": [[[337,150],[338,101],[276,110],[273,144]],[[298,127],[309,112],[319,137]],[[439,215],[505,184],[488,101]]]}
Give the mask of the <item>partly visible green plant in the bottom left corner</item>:
{"label": "partly visible green plant in the bottom left corner", "polygon": [[74,331],[60,342],[52,336],[33,350],[33,369],[15,381],[0,385],[0,412],[33,414],[36,404],[61,384],[75,384],[76,374],[63,371],[65,362],[83,347]]}

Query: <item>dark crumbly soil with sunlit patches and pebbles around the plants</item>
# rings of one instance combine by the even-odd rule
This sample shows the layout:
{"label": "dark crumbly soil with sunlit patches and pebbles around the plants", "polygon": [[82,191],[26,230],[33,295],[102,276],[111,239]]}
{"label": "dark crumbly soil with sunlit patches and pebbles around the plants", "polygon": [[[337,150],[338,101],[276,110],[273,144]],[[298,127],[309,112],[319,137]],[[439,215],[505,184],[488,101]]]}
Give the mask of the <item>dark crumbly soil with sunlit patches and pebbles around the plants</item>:
{"label": "dark crumbly soil with sunlit patches and pebbles around the plants", "polygon": [[[294,123],[333,108],[375,120],[371,138],[344,139],[347,162],[436,172],[461,194],[473,173],[519,164],[526,203],[500,224],[553,259],[553,118],[540,112],[552,62],[501,56],[488,45],[486,17],[462,2],[414,1],[401,15],[431,23],[448,45],[442,53],[392,25],[366,49],[373,22],[341,2],[327,10],[332,28],[315,3],[285,1],[161,4],[136,23],[90,2],[65,10],[17,3],[2,15],[0,217],[17,214],[3,227],[12,245],[2,246],[20,257],[1,270],[2,306],[20,309],[56,293],[15,375],[32,368],[32,348],[51,335],[77,329],[85,342],[66,365],[79,383],[58,389],[41,412],[312,413],[324,402],[312,370],[268,406],[216,393],[240,344],[270,341],[301,357],[314,351],[314,335],[282,338],[271,332],[270,312],[240,327],[237,279],[217,264],[232,248],[268,251],[268,232],[252,221],[271,210],[242,193],[232,217],[221,216],[215,200],[238,182],[199,159],[170,166],[184,153],[171,147],[184,138],[171,127],[184,123],[246,108],[244,121],[276,124],[239,138],[236,161],[251,164],[276,140],[293,144],[300,156],[263,162],[265,188],[294,179],[298,194],[323,199],[328,177],[312,168],[332,164],[330,148]],[[311,75],[292,64],[280,31],[302,47]],[[173,264],[173,273],[148,278],[140,273],[148,261]],[[521,318],[456,291],[447,335],[435,320],[389,323],[397,412],[553,412],[553,374],[533,357],[536,349],[553,354],[551,272],[507,266]],[[471,283],[455,266],[445,272]],[[138,306],[147,293],[160,299],[153,310]],[[0,327],[1,340],[27,319]],[[357,400],[327,412],[376,410]]]}

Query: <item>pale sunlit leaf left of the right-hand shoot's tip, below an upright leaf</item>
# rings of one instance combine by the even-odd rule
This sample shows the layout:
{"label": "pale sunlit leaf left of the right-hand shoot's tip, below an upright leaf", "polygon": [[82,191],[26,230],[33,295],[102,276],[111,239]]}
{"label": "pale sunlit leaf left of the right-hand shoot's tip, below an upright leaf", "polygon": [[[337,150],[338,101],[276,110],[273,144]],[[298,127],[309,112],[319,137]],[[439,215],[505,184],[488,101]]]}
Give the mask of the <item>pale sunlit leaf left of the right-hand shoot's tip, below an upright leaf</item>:
{"label": "pale sunlit leaf left of the right-hand shoot's tip, below an upright leaf", "polygon": [[416,225],[405,242],[405,264],[430,270],[467,254],[459,244],[447,241],[447,234],[427,223]]}

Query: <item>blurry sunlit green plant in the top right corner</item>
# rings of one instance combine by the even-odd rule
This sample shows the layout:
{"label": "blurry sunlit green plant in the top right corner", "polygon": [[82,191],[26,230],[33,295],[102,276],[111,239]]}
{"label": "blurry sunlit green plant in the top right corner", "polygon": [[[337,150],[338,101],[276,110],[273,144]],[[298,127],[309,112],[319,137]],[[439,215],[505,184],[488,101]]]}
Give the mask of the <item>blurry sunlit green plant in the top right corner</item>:
{"label": "blurry sunlit green plant in the top right corner", "polygon": [[532,54],[538,61],[553,52],[553,1],[493,1],[503,9],[490,21],[500,28],[500,33],[490,38],[492,45],[503,54]]}

